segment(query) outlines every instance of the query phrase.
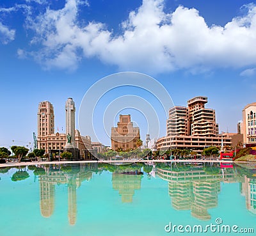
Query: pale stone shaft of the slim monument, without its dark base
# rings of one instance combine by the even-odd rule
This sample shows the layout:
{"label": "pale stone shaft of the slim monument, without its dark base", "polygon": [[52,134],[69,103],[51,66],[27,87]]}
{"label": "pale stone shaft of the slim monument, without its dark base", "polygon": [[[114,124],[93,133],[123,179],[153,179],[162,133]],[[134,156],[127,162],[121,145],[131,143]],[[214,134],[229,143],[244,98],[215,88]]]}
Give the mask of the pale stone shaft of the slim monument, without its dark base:
{"label": "pale stone shaft of the slim monument, without its dark base", "polygon": [[71,136],[70,143],[67,143],[66,146],[75,148],[75,102],[72,98],[68,98],[65,106],[66,110],[66,135],[68,134]]}

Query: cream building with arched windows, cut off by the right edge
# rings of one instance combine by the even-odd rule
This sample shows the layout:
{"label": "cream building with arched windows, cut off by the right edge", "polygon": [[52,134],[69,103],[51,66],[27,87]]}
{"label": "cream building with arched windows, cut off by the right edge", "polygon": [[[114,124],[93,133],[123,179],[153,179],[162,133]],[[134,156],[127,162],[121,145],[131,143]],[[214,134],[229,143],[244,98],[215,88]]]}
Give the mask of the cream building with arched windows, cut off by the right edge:
{"label": "cream building with arched windows, cut off by the right edge", "polygon": [[256,102],[248,104],[243,109],[243,122],[241,123],[244,145],[256,146]]}

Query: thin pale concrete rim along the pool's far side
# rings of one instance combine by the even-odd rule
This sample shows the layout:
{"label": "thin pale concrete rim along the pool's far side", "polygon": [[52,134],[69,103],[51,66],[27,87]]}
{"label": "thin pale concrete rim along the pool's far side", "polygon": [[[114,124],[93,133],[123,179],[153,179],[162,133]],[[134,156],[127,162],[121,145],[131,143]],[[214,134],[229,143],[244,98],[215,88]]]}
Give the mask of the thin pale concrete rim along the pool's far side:
{"label": "thin pale concrete rim along the pool's far side", "polygon": [[[42,165],[45,165],[45,164],[72,164],[72,163],[108,163],[108,164],[115,164],[115,163],[120,163],[121,161],[40,161],[40,162],[6,162],[6,163],[3,163],[3,164],[0,164],[0,168],[1,167],[10,167],[10,166],[33,166],[33,165],[36,165],[36,164],[42,164]],[[230,162],[232,163],[233,161],[218,161],[218,160],[138,160],[138,161],[122,161],[122,163],[135,163],[135,162],[212,162],[212,163],[222,163],[222,162]],[[256,163],[254,161],[236,161],[234,163]]]}

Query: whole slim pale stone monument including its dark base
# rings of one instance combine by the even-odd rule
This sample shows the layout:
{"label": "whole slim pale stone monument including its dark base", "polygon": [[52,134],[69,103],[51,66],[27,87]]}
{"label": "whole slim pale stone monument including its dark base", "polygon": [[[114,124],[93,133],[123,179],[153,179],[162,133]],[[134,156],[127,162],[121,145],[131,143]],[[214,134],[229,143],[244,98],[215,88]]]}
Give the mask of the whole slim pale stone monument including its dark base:
{"label": "whole slim pale stone monument including its dark base", "polygon": [[72,159],[79,159],[79,149],[76,148],[75,143],[75,102],[72,98],[68,98],[66,105],[66,135],[67,143],[64,147],[64,151],[72,152]]}

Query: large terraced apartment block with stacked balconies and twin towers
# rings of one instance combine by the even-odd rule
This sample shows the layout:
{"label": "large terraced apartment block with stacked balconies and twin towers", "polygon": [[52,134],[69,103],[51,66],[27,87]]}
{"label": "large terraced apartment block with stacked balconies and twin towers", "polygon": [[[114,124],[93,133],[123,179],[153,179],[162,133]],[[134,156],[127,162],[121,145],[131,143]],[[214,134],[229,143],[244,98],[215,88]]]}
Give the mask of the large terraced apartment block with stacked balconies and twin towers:
{"label": "large terraced apartment block with stacked balconies and twin towers", "polygon": [[232,145],[232,138],[220,135],[214,109],[205,108],[207,97],[188,100],[188,107],[174,106],[166,121],[166,137],[157,140],[157,149],[188,148],[201,153],[207,146]]}

